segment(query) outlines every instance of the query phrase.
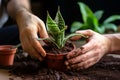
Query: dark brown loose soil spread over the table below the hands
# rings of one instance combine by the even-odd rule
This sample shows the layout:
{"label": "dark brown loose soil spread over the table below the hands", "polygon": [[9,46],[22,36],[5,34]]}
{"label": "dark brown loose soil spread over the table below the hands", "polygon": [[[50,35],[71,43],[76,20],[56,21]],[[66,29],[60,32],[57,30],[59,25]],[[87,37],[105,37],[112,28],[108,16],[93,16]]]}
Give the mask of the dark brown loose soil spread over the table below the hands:
{"label": "dark brown loose soil spread over the table below the hands", "polygon": [[[120,58],[104,56],[97,64],[78,72],[48,69],[45,62],[16,54],[10,74],[22,80],[120,80]],[[14,80],[10,78],[10,80]]]}

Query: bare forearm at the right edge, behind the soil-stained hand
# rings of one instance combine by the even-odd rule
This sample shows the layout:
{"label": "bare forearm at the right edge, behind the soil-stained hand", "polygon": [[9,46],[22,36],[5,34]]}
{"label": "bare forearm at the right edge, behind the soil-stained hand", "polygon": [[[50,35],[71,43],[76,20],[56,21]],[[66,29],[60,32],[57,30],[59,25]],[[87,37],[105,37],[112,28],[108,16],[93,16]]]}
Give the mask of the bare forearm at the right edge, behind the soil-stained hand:
{"label": "bare forearm at the right edge, behind the soil-stained hand", "polygon": [[111,50],[120,51],[120,34],[107,34],[105,35],[111,41]]}

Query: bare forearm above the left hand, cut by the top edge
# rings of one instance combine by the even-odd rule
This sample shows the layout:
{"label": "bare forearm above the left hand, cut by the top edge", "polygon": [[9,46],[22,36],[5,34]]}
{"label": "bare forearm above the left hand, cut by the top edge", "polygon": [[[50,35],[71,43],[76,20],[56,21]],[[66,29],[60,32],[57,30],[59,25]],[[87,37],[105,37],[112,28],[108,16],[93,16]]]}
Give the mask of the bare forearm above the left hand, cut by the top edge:
{"label": "bare forearm above the left hand, cut by the top edge", "polygon": [[18,13],[31,11],[29,0],[9,0],[7,11],[12,18],[16,18]]}

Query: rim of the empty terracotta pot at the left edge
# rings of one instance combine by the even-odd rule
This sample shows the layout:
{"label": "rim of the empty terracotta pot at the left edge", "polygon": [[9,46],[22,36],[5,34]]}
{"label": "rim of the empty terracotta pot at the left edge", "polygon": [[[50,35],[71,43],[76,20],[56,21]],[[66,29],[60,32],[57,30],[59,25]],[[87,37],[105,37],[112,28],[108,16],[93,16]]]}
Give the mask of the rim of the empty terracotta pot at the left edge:
{"label": "rim of the empty terracotta pot at the left edge", "polygon": [[14,47],[14,45],[0,45],[0,54],[13,54],[13,51],[16,51],[17,48],[12,47]]}

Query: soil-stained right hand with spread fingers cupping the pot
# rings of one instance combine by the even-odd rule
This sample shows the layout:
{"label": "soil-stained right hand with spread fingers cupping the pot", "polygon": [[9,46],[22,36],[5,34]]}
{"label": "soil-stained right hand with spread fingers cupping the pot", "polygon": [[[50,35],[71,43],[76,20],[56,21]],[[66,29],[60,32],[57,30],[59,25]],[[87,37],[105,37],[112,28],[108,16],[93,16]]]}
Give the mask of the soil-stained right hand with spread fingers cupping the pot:
{"label": "soil-stained right hand with spread fingers cupping the pot", "polygon": [[[107,37],[92,30],[76,31],[76,33],[88,36],[88,43],[76,49],[73,53],[67,54],[65,65],[68,69],[86,69],[97,63],[103,55],[109,52],[111,42]],[[76,36],[72,40],[79,40],[80,38],[80,36]]]}

